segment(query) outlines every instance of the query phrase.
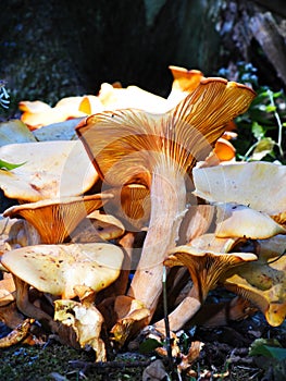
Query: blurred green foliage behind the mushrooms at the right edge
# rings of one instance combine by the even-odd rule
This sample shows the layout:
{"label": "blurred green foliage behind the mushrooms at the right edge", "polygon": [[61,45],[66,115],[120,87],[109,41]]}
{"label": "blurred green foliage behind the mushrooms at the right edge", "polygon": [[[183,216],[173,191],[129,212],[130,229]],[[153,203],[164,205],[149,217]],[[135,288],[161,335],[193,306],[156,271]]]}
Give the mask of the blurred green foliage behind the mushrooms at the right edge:
{"label": "blurred green foliage behind the mushrooms at the right edge", "polygon": [[[219,75],[229,78],[229,71],[221,69]],[[237,82],[257,91],[248,111],[236,119],[237,139],[233,142],[237,159],[243,161],[278,161],[286,163],[286,96],[283,89],[273,91],[260,85],[257,69],[251,63],[237,63]],[[283,122],[284,121],[284,122]]]}

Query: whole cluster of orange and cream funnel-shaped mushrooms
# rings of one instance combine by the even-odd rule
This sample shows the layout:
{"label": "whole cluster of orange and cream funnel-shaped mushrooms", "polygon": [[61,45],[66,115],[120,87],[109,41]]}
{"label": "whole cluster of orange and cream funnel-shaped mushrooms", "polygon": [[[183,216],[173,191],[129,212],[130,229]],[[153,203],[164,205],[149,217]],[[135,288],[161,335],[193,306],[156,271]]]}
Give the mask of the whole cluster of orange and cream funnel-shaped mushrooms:
{"label": "whole cluster of orange and cream funnel-shaped mushrooms", "polygon": [[[170,69],[166,99],[103,84],[98,96],[55,108],[21,102],[22,122],[9,122],[18,143],[0,142],[0,158],[21,164],[0,170],[2,198],[13,204],[2,208],[1,236],[0,319],[9,327],[36,319],[105,360],[107,340],[121,347],[148,324],[166,334],[165,269],[174,333],[216,286],[239,295],[239,318],[243,299],[270,324],[284,321],[286,170],[236,163],[226,133],[256,94]],[[47,126],[71,116],[76,123]]]}

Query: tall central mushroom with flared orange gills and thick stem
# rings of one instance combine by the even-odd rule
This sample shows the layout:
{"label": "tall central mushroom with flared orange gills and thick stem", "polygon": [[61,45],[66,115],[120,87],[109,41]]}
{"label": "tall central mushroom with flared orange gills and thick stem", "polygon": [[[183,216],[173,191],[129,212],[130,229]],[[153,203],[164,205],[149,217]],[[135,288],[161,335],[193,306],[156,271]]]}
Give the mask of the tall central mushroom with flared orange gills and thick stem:
{"label": "tall central mushroom with flared orange gills and thick stem", "polygon": [[162,291],[163,258],[175,246],[186,212],[186,175],[196,160],[212,150],[225,123],[247,110],[254,95],[240,84],[202,78],[164,114],[107,111],[76,127],[102,180],[119,187],[132,183],[150,187],[150,223],[128,291],[151,310],[150,318]]}

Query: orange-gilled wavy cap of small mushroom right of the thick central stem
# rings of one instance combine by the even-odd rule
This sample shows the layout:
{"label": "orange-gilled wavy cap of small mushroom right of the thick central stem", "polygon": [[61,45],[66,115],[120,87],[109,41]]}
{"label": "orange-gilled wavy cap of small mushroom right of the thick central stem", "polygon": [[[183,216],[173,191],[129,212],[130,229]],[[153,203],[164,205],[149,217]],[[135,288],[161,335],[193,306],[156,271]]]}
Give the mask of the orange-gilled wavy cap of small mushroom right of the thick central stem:
{"label": "orange-gilled wavy cap of small mushroom right of the thick central stem", "polygon": [[197,298],[203,302],[209,291],[227,271],[252,260],[257,260],[257,256],[252,253],[225,254],[199,250],[191,246],[178,246],[170,251],[164,265],[185,266],[190,273]]}

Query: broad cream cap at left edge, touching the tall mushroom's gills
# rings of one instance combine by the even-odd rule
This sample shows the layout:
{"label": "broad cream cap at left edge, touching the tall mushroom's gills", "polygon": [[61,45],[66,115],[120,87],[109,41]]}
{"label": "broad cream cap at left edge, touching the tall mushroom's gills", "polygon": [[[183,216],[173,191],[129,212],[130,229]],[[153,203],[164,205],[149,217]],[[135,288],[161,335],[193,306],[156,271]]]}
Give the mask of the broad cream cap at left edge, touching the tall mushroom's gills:
{"label": "broad cream cap at left edge, touching the tall mushroom's gills", "polygon": [[0,170],[0,187],[5,196],[26,201],[77,196],[98,180],[80,142],[38,142],[0,148],[2,160],[24,163],[7,172]]}

